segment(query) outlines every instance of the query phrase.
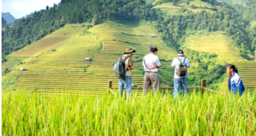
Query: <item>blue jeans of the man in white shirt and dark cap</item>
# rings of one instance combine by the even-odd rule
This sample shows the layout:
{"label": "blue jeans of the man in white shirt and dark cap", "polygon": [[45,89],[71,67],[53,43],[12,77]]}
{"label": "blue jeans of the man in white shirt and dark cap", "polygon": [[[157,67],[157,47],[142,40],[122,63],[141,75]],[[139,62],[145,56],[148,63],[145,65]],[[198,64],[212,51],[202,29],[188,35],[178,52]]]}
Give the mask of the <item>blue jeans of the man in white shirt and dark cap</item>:
{"label": "blue jeans of the man in white shirt and dark cap", "polygon": [[180,86],[181,86],[181,90],[183,90],[183,97],[184,97],[185,92],[187,94],[187,78],[174,79],[173,82],[174,82],[173,96],[177,97],[177,95],[180,93]]}

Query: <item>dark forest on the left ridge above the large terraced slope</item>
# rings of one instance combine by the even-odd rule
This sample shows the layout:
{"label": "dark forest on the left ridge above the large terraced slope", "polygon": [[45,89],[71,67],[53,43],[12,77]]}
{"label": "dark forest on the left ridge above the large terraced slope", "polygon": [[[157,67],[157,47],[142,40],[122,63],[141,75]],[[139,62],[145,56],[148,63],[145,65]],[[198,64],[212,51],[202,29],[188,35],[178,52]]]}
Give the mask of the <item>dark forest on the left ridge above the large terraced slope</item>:
{"label": "dark forest on the left ridge above the large terraced slope", "polygon": [[61,5],[36,12],[33,17],[20,20],[4,32],[2,54],[7,55],[63,27],[65,24],[93,22],[106,19],[154,19],[155,11],[143,0],[62,0]]}

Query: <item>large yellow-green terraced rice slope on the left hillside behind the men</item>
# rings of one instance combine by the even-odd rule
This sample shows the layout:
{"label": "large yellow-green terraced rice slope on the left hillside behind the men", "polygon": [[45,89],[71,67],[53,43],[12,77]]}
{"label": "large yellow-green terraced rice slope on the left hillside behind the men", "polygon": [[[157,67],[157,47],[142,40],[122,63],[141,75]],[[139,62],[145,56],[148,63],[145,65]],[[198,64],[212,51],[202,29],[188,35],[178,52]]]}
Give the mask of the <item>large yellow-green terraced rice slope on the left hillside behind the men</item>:
{"label": "large yellow-green terraced rice slope on the left hillside behind the men", "polygon": [[[67,41],[56,42],[59,46],[54,48],[55,52],[50,51],[53,45],[49,44],[48,47],[40,43],[47,41],[48,37],[54,37],[49,35],[38,41],[40,44],[35,42],[27,47],[28,49],[33,47],[34,50],[38,48],[35,50],[37,53],[27,54],[28,58],[24,58],[25,55],[22,54],[11,54],[9,57],[24,58],[26,63],[17,66],[16,70],[9,73],[10,77],[18,76],[15,84],[9,85],[9,77],[2,80],[3,88],[14,90],[13,94],[18,94],[21,90],[31,92],[35,89],[37,92],[47,94],[53,94],[54,90],[58,90],[58,92],[68,91],[68,93],[78,91],[91,96],[101,95],[105,93],[108,80],[113,81],[113,87],[118,87],[118,79],[113,76],[112,64],[118,60],[120,53],[122,54],[126,48],[136,49],[137,52],[134,53],[132,59],[141,61],[150,50],[150,47],[145,44],[154,44],[161,54],[159,58],[166,60],[162,62],[162,66],[170,66],[169,60],[176,55],[174,50],[161,43],[157,38],[159,33],[149,26],[105,22],[89,29],[91,33],[87,35],[79,34],[84,30],[83,28],[72,27],[72,29],[77,33],[68,34],[72,38]],[[142,31],[144,29],[145,31]],[[156,37],[150,37],[149,34],[154,34]],[[25,51],[29,52],[25,49],[18,52]],[[34,57],[35,55],[37,56]],[[90,57],[92,61],[84,62],[86,57]],[[142,65],[141,62],[138,65]],[[20,71],[20,67],[26,70]],[[143,85],[144,77],[142,71],[138,69],[140,67],[142,66],[132,70],[132,84],[138,87]]]}

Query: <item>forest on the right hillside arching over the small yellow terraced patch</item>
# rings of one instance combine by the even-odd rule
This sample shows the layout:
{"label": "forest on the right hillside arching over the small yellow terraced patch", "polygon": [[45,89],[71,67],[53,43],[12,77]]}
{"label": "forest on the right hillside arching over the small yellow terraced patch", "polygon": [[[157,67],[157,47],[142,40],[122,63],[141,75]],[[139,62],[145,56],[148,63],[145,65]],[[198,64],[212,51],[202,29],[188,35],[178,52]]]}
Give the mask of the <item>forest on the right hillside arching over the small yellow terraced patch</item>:
{"label": "forest on the right hillside arching over the small yellow terraced patch", "polygon": [[[230,6],[219,7],[215,14],[204,11],[196,14],[174,15],[169,18],[160,14],[158,17],[156,27],[159,32],[162,32],[163,37],[168,37],[170,43],[173,40],[178,42],[177,40],[189,30],[208,32],[222,30],[233,40],[239,56],[246,58],[247,54],[252,54],[255,50],[255,42],[250,41],[246,36],[247,33],[251,34],[249,30],[245,31],[249,21]],[[176,47],[178,48],[179,44],[176,44]]]}

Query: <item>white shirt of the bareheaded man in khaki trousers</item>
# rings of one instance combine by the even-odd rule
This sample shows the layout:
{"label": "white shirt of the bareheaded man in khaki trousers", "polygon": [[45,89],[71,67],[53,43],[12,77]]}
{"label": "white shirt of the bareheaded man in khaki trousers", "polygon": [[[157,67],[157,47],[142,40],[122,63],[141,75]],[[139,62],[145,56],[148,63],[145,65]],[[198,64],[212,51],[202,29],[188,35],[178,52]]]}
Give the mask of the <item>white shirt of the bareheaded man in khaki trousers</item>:
{"label": "white shirt of the bareheaded man in khaki trousers", "polygon": [[143,63],[142,65],[144,66],[144,71],[151,71],[151,72],[158,72],[157,68],[155,69],[148,69],[146,66],[145,66],[145,63],[146,63],[146,66],[148,68],[155,68],[157,66],[161,66],[161,63],[159,61],[159,58],[157,55],[153,54],[153,53],[149,53],[147,54],[144,58],[143,58]]}

